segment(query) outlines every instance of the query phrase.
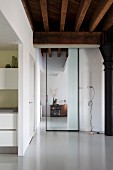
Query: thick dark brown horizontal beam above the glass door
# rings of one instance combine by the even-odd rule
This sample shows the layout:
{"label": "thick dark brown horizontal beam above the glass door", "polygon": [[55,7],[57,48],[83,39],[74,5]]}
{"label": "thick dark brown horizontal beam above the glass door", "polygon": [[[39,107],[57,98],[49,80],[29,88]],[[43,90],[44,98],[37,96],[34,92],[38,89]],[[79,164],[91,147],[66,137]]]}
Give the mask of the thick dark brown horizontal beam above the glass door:
{"label": "thick dark brown horizontal beam above the glass door", "polygon": [[100,32],[35,32],[34,45],[100,44]]}

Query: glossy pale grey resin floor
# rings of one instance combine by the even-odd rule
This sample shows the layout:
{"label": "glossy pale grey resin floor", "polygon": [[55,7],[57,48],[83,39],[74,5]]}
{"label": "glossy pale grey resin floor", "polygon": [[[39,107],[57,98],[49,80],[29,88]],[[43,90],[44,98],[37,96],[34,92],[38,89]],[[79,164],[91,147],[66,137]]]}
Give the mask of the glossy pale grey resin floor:
{"label": "glossy pale grey resin floor", "polygon": [[0,170],[113,170],[113,137],[42,128],[24,158],[0,155]]}

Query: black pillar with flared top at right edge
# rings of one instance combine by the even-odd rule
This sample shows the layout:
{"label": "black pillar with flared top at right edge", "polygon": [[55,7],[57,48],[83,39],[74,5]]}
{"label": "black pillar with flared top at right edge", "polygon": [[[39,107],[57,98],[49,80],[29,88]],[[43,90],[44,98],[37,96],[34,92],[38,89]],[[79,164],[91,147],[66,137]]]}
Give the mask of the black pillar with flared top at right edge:
{"label": "black pillar with flared top at right edge", "polygon": [[113,44],[105,34],[100,51],[105,66],[105,135],[113,136]]}

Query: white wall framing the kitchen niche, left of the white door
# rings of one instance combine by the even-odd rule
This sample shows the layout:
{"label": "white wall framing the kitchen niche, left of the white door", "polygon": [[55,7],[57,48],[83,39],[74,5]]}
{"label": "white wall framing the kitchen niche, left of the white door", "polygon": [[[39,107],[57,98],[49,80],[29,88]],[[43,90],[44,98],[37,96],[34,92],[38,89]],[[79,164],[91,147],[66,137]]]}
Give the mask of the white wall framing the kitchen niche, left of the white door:
{"label": "white wall framing the kitchen niche, left of the white door", "polygon": [[21,41],[19,45],[18,155],[22,156],[29,145],[29,55],[35,58],[36,51],[33,48],[33,32],[21,0],[0,0],[0,10]]}

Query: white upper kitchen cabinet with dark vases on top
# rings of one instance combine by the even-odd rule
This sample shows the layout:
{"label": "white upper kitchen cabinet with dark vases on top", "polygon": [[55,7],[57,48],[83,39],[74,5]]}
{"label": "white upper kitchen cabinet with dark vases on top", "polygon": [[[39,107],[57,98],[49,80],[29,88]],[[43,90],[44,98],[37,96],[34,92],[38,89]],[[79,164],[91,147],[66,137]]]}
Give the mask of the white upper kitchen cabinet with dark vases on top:
{"label": "white upper kitchen cabinet with dark vases on top", "polygon": [[0,68],[0,89],[18,89],[18,68]]}

